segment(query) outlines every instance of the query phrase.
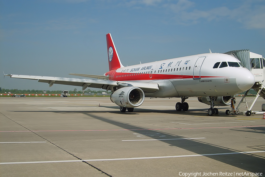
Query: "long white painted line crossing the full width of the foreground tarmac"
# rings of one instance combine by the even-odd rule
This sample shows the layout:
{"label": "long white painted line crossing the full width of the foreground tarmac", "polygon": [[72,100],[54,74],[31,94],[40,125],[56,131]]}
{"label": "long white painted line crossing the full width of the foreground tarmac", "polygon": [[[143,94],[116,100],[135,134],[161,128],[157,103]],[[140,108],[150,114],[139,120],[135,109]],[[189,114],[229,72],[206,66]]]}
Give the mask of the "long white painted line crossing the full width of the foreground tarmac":
{"label": "long white painted line crossing the full width of the foreground tarmac", "polygon": [[60,163],[60,162],[82,162],[82,161],[120,161],[120,160],[137,160],[137,159],[155,159],[155,158],[177,158],[177,157],[196,157],[196,156],[216,156],[216,155],[231,155],[231,154],[246,154],[246,153],[264,153],[265,150],[248,151],[248,152],[231,152],[231,153],[215,153],[215,154],[193,154],[180,156],[158,156],[158,157],[132,157],[132,158],[109,158],[109,159],[88,159],[88,160],[68,160],[68,161],[35,161],[35,162],[1,162],[4,164],[22,164],[22,163]]}

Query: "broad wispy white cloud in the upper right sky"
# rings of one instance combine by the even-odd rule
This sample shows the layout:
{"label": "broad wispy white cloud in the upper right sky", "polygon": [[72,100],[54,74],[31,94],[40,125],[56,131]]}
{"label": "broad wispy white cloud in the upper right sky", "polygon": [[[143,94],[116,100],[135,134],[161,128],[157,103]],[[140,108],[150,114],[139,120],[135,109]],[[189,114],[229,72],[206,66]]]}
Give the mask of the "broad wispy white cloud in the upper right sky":
{"label": "broad wispy white cloud in the upper right sky", "polygon": [[182,25],[193,25],[202,21],[235,21],[242,24],[245,29],[265,29],[264,1],[239,1],[237,6],[231,4],[213,7],[213,4],[201,6],[198,1],[179,0],[133,0],[128,1],[131,6],[156,6],[170,16],[173,21]]}

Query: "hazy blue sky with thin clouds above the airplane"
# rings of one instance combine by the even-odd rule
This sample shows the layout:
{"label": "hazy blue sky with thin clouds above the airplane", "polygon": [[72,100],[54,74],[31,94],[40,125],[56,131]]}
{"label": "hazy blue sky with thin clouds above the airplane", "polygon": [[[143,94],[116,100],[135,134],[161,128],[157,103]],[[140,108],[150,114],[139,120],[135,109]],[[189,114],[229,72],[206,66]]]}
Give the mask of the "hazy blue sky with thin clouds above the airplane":
{"label": "hazy blue sky with thin clouds above the airplane", "polygon": [[[108,71],[107,33],[124,66],[250,49],[265,56],[264,0],[0,0],[0,70],[74,77]],[[81,87],[0,77],[0,87]]]}

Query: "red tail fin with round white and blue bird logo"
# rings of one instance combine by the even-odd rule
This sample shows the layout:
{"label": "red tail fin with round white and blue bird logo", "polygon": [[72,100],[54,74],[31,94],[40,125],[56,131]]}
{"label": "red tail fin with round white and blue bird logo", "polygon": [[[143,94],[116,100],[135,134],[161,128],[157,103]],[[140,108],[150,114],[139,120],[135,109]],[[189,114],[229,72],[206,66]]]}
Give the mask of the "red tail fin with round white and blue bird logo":
{"label": "red tail fin with round white and blue bird logo", "polygon": [[124,67],[121,62],[119,55],[117,53],[116,47],[112,40],[111,34],[106,34],[107,39],[107,49],[108,49],[108,60],[109,60],[109,69],[116,70],[118,68]]}

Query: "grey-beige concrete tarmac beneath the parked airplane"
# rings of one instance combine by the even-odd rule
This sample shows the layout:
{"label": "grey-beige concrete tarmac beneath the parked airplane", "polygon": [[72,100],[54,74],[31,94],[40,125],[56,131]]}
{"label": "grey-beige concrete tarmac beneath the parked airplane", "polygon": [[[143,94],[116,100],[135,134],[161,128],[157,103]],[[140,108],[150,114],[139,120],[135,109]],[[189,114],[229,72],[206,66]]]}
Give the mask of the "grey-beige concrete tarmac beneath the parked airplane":
{"label": "grey-beige concrete tarmac beneath the parked airplane", "polygon": [[180,100],[121,113],[109,97],[0,97],[0,174],[265,176],[262,114],[208,116],[195,97],[177,112]]}

